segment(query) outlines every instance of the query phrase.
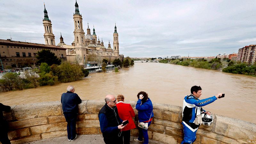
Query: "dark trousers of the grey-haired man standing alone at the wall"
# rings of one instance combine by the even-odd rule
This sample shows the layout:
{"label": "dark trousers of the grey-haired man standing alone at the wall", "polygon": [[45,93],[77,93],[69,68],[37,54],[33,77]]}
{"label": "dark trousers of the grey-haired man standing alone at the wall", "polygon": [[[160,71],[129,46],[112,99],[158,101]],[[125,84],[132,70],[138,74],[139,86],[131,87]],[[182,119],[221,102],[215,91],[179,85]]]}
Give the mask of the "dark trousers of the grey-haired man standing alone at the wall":
{"label": "dark trousers of the grey-haired man standing alone at the wall", "polygon": [[74,140],[76,137],[76,113],[64,114],[67,124],[68,139]]}

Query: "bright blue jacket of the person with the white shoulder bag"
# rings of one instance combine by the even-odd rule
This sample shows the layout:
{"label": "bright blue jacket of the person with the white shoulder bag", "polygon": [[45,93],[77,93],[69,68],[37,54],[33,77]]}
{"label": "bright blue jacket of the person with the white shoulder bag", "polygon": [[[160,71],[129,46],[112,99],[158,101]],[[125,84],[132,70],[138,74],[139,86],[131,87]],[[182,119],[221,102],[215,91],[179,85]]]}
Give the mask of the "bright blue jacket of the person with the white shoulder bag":
{"label": "bright blue jacket of the person with the white shoulder bag", "polygon": [[153,105],[152,105],[152,102],[149,98],[144,103],[141,103],[141,100],[139,99],[137,101],[137,104],[136,104],[135,108],[138,109],[138,117],[139,117],[140,122],[148,121],[151,113],[152,113],[151,117],[154,116],[154,113],[152,112],[153,111]]}

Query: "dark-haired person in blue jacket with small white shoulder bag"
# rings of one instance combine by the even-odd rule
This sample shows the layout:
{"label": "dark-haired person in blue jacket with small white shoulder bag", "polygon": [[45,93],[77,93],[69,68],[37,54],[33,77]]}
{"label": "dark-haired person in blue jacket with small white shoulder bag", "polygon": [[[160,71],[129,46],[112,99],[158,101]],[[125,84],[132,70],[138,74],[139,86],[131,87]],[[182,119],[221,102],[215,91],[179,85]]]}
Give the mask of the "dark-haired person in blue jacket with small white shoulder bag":
{"label": "dark-haired person in blue jacket with small white shoulder bag", "polygon": [[148,98],[148,93],[139,92],[137,97],[138,101],[135,108],[138,110],[139,137],[135,138],[134,141],[142,142],[142,138],[144,137],[143,144],[148,144],[148,126],[151,124],[152,117],[154,116],[153,105]]}

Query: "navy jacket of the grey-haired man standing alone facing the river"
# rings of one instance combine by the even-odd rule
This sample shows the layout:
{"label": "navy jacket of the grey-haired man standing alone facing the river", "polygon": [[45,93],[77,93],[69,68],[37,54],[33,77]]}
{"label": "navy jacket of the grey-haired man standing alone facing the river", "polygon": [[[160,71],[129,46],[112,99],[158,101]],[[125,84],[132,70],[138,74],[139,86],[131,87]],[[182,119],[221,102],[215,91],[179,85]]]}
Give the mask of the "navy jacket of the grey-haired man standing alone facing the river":
{"label": "navy jacket of the grey-haired man standing alone facing the river", "polygon": [[65,113],[77,113],[78,112],[78,104],[82,102],[80,97],[73,92],[62,93],[61,95],[61,103],[63,114]]}

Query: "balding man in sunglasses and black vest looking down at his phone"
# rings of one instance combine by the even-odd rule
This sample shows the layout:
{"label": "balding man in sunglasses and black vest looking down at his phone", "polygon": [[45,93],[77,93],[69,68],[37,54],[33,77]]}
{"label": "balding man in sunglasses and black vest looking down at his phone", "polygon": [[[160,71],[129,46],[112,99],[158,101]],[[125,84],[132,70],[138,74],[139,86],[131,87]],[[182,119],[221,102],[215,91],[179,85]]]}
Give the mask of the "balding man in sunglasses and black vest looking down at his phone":
{"label": "balding man in sunglasses and black vest looking down at his phone", "polygon": [[121,136],[122,129],[125,125],[120,119],[116,108],[116,98],[113,95],[107,95],[105,98],[105,105],[100,109],[99,121],[100,130],[106,144],[118,143],[122,144],[123,139]]}

